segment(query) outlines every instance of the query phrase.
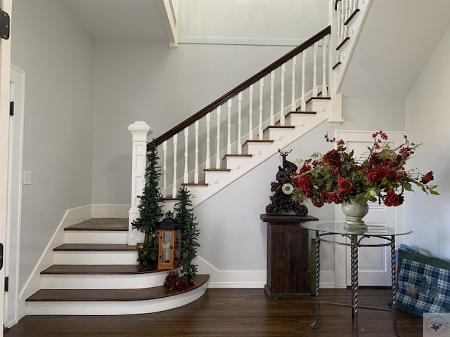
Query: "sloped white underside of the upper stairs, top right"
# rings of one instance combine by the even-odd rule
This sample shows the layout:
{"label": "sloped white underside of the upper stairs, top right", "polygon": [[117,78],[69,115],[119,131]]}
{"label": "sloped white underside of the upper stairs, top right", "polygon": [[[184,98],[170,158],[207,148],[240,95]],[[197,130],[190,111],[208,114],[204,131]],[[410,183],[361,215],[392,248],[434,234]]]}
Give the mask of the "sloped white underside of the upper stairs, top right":
{"label": "sloped white underside of the upper stairs, top right", "polygon": [[450,0],[373,0],[341,91],[405,98],[450,25]]}

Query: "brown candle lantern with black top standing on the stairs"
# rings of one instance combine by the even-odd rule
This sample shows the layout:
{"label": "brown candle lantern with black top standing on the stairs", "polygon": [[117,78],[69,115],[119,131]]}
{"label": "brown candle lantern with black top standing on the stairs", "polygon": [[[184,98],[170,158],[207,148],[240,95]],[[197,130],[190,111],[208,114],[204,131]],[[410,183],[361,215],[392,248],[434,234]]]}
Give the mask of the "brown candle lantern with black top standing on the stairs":
{"label": "brown candle lantern with black top standing on the stairs", "polygon": [[181,227],[174,213],[168,211],[160,227],[156,230],[158,238],[158,269],[174,269],[181,265]]}

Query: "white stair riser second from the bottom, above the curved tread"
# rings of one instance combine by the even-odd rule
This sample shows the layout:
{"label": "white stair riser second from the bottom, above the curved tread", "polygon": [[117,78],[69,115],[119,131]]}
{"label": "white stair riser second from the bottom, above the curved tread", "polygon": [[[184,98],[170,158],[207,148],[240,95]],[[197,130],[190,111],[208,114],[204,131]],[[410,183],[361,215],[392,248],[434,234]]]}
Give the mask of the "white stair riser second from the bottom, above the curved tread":
{"label": "white stair riser second from the bottom, above the curved tread", "polygon": [[167,271],[135,275],[41,275],[41,289],[138,289],[162,286]]}

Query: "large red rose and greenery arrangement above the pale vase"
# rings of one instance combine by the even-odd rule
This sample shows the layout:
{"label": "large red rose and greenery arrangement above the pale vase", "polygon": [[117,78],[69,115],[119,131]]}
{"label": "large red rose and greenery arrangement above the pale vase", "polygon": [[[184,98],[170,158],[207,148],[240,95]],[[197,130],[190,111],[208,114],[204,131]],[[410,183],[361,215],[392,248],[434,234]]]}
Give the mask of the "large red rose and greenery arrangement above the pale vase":
{"label": "large red rose and greenery arrangement above the pale vase", "polygon": [[354,158],[354,151],[347,152],[344,140],[325,136],[335,149],[326,154],[311,154],[311,158],[300,160],[302,166],[293,177],[295,185],[293,199],[310,199],[317,207],[323,204],[342,204],[354,197],[356,204],[368,201],[383,201],[386,206],[399,206],[404,201],[404,191],[412,191],[412,184],[423,192],[439,194],[437,185],[427,185],[433,180],[433,171],[426,174],[416,169],[406,169],[406,161],[420,144],[404,143],[392,148],[383,131],[373,133],[373,145],[368,147],[364,161]]}

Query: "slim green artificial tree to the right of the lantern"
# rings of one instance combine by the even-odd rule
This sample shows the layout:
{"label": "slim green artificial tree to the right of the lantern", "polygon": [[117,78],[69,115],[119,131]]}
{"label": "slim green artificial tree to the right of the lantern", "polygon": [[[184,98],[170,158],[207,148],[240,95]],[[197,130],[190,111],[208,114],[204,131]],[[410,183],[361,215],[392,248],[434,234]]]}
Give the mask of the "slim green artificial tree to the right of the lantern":
{"label": "slim green artificial tree to the right of the lantern", "polygon": [[176,199],[178,201],[174,207],[175,220],[183,224],[181,229],[181,273],[184,274],[187,282],[193,283],[197,275],[197,265],[193,264],[193,259],[197,256],[197,249],[200,247],[197,242],[200,230],[197,229],[197,223],[195,223],[191,194],[185,187],[179,190]]}

